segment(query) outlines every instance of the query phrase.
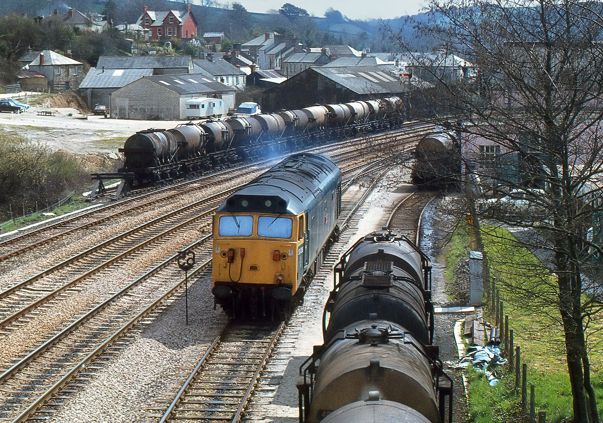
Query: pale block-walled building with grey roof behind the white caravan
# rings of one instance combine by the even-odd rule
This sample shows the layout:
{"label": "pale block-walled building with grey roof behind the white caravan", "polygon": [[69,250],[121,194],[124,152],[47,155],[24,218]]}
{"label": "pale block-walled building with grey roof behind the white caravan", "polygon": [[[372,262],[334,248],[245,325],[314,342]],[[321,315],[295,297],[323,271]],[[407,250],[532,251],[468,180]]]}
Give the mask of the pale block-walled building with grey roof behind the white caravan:
{"label": "pale block-walled building with grey roof behind the white caravan", "polygon": [[186,101],[221,98],[235,107],[236,89],[204,75],[156,75],[139,78],[111,93],[110,114],[118,119],[186,119]]}

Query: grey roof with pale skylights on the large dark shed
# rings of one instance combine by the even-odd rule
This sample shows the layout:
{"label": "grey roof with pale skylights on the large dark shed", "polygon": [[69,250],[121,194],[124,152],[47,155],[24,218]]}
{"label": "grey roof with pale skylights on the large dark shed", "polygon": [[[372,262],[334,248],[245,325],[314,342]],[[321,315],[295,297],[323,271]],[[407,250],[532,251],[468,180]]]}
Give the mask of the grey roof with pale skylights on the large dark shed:
{"label": "grey roof with pale skylights on the large dark shed", "polygon": [[387,94],[405,91],[405,87],[397,76],[396,67],[390,64],[352,67],[310,67],[304,72],[317,72],[357,94]]}

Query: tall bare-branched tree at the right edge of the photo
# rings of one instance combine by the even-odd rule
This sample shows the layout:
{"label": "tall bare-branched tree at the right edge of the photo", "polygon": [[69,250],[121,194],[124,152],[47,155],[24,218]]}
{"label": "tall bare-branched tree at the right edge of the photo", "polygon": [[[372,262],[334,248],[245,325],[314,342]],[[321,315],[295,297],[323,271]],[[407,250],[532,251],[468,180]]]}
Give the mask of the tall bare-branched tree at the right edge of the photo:
{"label": "tall bare-branched tree at the right edge of the photo", "polygon": [[415,53],[402,31],[388,30],[412,74],[432,84],[412,92],[414,113],[464,131],[464,152],[474,153],[464,157],[466,175],[522,197],[481,202],[478,213],[536,235],[523,245],[541,248],[548,266],[538,283],[513,286],[516,305],[553,306],[574,421],[599,422],[586,334],[601,294],[585,274],[603,257],[603,4],[434,0],[430,8],[428,22],[412,24],[437,40],[433,51]]}

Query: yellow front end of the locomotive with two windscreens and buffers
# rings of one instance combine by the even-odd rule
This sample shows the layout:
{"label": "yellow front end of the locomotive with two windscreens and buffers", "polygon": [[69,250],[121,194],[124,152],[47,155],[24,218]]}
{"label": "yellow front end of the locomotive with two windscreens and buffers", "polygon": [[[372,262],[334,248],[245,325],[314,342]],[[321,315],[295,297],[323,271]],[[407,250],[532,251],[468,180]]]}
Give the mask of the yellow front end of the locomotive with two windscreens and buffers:
{"label": "yellow front end of the locomotive with two windscreens and buffers", "polygon": [[[288,304],[301,280],[303,238],[303,214],[217,213],[212,290],[216,302],[233,315],[251,310],[264,316],[275,302]],[[236,310],[239,304],[241,310]]]}

